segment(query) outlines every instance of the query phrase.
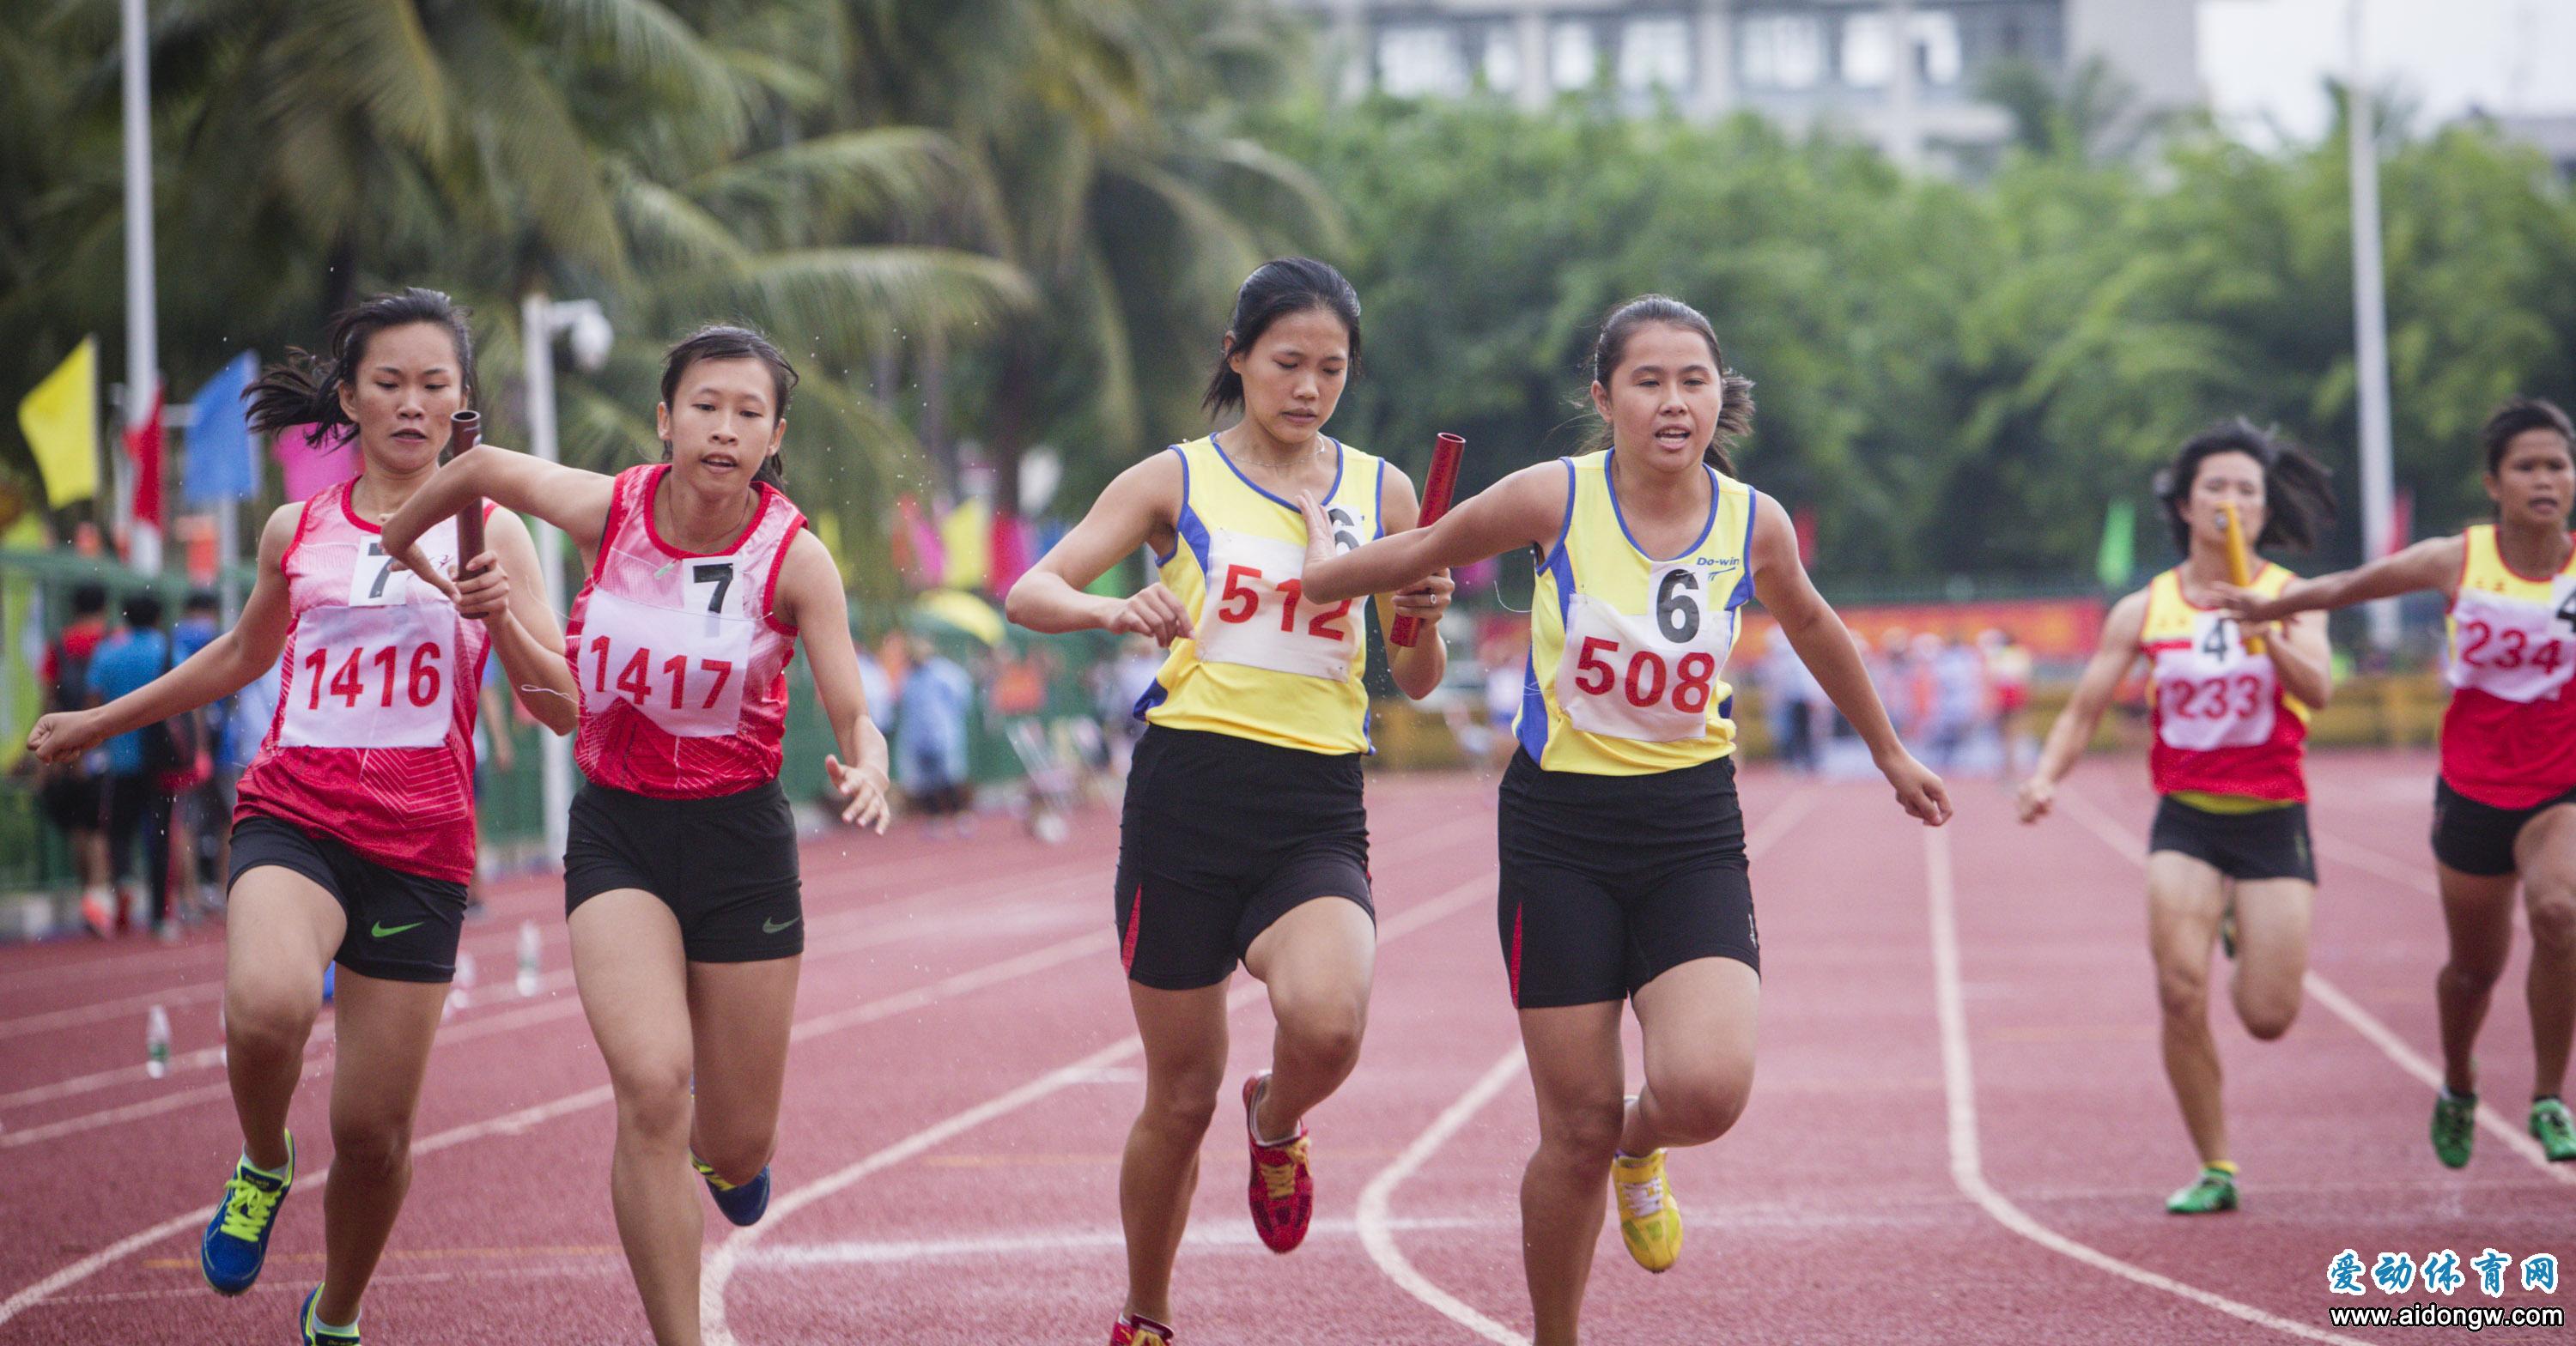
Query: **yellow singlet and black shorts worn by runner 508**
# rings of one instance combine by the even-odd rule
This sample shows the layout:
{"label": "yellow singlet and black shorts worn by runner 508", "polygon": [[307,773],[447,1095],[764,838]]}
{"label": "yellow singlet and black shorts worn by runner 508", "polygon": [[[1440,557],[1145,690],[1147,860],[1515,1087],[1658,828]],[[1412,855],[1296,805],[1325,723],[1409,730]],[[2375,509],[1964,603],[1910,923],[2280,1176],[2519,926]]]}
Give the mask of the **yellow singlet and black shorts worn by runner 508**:
{"label": "yellow singlet and black shorts worn by runner 508", "polygon": [[1564,463],[1497,818],[1520,1009],[1628,999],[1695,957],[1762,968],[1723,679],[1757,497],[1708,468],[1708,525],[1656,558],[1620,517],[1613,453]]}

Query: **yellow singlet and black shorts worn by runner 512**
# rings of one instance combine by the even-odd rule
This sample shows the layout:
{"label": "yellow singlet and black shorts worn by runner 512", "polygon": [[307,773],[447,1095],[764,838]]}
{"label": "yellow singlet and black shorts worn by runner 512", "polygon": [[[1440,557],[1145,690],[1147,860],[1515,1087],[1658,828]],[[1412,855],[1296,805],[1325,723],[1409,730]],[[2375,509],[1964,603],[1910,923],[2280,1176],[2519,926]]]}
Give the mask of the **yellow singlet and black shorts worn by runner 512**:
{"label": "yellow singlet and black shorts worn by runner 512", "polygon": [[[1386,463],[1334,443],[1324,497],[1337,543],[1381,535]],[[1213,438],[1175,445],[1182,492],[1162,582],[1190,610],[1136,703],[1146,721],[1118,844],[1118,939],[1128,978],[1216,986],[1298,903],[1370,906],[1365,605],[1306,602],[1306,520],[1255,486]],[[1257,782],[1260,834],[1242,818]]]}

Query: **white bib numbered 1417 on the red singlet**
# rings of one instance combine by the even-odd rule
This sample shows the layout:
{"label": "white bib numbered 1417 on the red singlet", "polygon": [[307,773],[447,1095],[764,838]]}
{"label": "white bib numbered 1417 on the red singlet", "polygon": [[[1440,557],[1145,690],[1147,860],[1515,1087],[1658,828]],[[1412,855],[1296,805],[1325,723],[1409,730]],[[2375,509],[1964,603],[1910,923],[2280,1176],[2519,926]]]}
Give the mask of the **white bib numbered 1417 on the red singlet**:
{"label": "white bib numbered 1417 on the red singlet", "polygon": [[688,576],[677,605],[636,602],[592,589],[572,677],[582,710],[629,703],[672,739],[721,739],[742,721],[742,682],[752,667],[760,623],[729,602],[732,561],[680,561]]}

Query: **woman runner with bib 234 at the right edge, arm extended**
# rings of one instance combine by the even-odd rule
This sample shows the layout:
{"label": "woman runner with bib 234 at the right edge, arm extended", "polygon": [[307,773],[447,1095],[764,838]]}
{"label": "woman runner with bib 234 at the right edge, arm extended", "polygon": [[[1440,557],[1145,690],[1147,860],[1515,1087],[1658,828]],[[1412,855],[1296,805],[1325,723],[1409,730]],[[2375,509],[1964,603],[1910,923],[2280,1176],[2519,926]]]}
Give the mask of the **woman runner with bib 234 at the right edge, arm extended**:
{"label": "woman runner with bib 234 at the right edge, arm extended", "polygon": [[2385,561],[2231,595],[2246,620],[2439,592],[2450,600],[2450,710],[2434,780],[2432,854],[2450,927],[2434,978],[2442,1091],[2434,1156],[2468,1163],[2478,1109],[2478,1027],[2514,947],[2514,885],[2532,924],[2530,1132],[2576,1161],[2576,1117],[2558,1091],[2576,1037],[2576,427],[2537,399],[2506,401],[2481,432],[2496,522],[2421,540]]}

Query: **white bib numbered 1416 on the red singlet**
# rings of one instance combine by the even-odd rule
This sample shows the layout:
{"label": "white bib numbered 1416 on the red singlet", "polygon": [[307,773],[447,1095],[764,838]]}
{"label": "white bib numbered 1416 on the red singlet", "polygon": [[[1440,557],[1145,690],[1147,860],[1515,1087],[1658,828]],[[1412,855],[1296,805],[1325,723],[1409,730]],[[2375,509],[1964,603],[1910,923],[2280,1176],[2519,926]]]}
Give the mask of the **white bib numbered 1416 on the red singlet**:
{"label": "white bib numbered 1416 on the red singlet", "polygon": [[[453,553],[453,540],[446,553]],[[446,553],[433,561],[448,564]],[[296,667],[278,723],[289,749],[428,749],[448,736],[456,605],[368,538],[348,602],[296,618]]]}

